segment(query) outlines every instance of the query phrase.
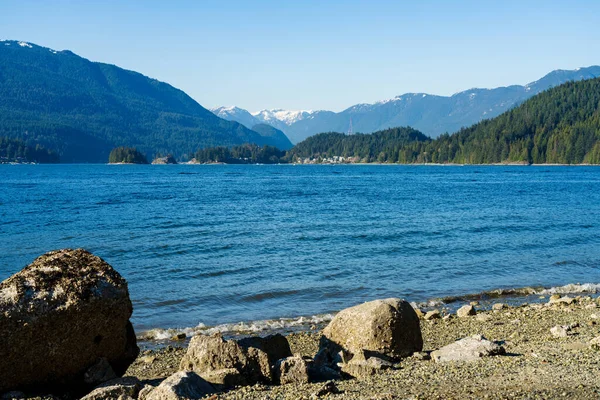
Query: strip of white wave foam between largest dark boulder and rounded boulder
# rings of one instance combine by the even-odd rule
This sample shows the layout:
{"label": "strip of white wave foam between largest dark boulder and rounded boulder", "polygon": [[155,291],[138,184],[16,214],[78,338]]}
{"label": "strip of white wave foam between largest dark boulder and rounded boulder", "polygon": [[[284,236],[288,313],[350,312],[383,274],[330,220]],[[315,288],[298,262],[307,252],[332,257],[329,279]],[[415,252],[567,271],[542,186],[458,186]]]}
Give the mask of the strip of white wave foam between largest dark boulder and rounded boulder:
{"label": "strip of white wave foam between largest dark boulder and rounded boulder", "polygon": [[223,335],[252,335],[260,332],[277,332],[286,330],[302,330],[312,325],[328,323],[333,319],[333,314],[320,314],[309,317],[280,318],[260,321],[237,322],[231,324],[220,324],[207,326],[199,324],[190,328],[151,329],[141,333],[139,340],[168,340],[175,335],[185,334],[186,337],[195,335],[212,335],[221,333]]}

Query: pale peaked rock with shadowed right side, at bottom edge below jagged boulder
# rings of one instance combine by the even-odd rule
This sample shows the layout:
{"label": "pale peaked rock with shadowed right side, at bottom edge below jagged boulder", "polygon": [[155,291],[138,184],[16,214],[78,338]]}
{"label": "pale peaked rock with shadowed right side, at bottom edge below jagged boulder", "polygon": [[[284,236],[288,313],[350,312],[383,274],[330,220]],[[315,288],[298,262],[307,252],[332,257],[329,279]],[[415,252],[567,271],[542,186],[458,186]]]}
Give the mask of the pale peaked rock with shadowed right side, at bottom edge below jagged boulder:
{"label": "pale peaked rock with shadowed right side, at bottom edge below jagged boulder", "polygon": [[211,393],[215,393],[215,388],[196,373],[180,371],[144,393],[144,400],[201,399]]}

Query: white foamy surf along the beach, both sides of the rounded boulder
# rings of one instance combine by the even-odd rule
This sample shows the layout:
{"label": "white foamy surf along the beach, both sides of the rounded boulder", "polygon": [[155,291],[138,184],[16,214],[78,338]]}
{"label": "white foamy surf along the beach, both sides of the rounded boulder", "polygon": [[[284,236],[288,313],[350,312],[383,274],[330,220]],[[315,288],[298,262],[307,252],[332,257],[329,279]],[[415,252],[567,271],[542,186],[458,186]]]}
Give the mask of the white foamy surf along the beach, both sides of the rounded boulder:
{"label": "white foamy surf along the beach, both sides of the rounded boulder", "polygon": [[[429,311],[439,308],[443,312],[456,312],[461,305],[477,301],[484,310],[491,309],[496,302],[502,301],[510,306],[519,306],[523,302],[541,304],[553,294],[586,295],[600,298],[599,283],[568,283],[560,286],[524,286],[519,288],[499,288],[474,293],[464,293],[444,297],[435,297],[420,302],[411,302],[414,308]],[[410,299],[408,299],[410,300]],[[187,342],[198,334],[212,335],[220,333],[227,338],[243,338],[253,335],[284,335],[312,332],[322,329],[333,319],[339,310],[325,311],[315,315],[279,317],[263,320],[225,322],[215,325],[200,323],[189,327],[153,327],[137,332],[141,347],[156,349]]]}

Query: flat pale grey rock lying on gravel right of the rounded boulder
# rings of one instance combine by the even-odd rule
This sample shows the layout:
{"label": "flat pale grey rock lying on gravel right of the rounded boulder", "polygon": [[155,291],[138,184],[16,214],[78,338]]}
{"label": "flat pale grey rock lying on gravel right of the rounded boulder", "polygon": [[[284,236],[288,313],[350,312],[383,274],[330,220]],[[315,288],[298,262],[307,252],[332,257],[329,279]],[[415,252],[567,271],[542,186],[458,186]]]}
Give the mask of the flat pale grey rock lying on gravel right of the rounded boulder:
{"label": "flat pale grey rock lying on gravel right of the rounded boulder", "polygon": [[491,342],[481,335],[460,339],[431,353],[435,362],[474,361],[481,357],[502,355],[504,347]]}

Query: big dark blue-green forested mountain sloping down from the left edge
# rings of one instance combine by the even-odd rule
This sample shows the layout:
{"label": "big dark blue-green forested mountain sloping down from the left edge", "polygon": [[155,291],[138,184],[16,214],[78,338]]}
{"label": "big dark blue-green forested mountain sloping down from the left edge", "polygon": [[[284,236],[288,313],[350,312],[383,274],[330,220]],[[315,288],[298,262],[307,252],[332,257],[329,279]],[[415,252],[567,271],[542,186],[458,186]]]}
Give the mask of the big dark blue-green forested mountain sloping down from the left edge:
{"label": "big dark blue-green forested mountain sloping down from the left edge", "polygon": [[54,150],[62,162],[106,162],[119,146],[182,157],[280,140],[215,116],[169,84],[18,41],[0,42],[0,136]]}

